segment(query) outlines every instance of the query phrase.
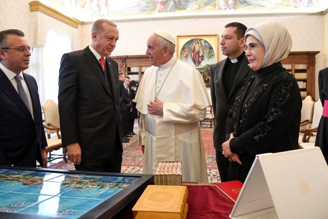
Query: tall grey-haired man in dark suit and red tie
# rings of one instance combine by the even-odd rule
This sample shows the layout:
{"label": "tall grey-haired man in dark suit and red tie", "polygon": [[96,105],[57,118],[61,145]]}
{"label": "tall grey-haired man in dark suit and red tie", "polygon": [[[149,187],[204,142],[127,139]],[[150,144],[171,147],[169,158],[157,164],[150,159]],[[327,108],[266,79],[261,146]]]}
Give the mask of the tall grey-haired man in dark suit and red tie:
{"label": "tall grey-haired man in dark suit and red tie", "polygon": [[118,65],[112,58],[116,25],[99,19],[91,45],[64,54],[59,69],[58,107],[63,144],[76,170],[120,172]]}

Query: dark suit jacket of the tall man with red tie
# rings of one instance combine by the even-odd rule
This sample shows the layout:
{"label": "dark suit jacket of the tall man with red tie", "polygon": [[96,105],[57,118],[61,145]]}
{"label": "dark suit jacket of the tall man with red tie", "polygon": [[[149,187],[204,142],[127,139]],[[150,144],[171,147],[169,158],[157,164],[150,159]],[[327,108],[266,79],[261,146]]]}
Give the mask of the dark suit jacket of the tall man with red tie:
{"label": "dark suit jacket of the tall man with red tie", "polygon": [[[106,57],[111,90],[89,47],[66,53],[59,69],[58,108],[64,145],[79,143],[83,156],[106,159],[122,149],[118,65]],[[116,151],[118,151],[116,150]]]}

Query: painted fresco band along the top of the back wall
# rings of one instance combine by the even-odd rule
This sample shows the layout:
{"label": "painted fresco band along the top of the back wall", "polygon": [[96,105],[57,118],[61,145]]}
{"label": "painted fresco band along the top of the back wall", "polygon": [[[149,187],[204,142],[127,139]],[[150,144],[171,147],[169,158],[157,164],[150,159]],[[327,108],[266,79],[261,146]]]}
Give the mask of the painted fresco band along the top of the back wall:
{"label": "painted fresco band along the top of the back wall", "polygon": [[74,17],[93,22],[111,19],[231,16],[250,14],[326,13],[326,0],[40,0],[39,2]]}

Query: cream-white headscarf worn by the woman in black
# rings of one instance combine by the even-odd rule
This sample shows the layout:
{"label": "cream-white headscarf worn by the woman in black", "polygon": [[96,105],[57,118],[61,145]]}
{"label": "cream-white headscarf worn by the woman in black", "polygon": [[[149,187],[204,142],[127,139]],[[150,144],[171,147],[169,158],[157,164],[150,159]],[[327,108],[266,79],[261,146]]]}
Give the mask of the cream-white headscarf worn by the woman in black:
{"label": "cream-white headscarf worn by the woman in black", "polygon": [[246,30],[247,36],[254,36],[264,46],[265,55],[261,68],[277,63],[288,56],[292,48],[292,37],[278,22],[263,22]]}

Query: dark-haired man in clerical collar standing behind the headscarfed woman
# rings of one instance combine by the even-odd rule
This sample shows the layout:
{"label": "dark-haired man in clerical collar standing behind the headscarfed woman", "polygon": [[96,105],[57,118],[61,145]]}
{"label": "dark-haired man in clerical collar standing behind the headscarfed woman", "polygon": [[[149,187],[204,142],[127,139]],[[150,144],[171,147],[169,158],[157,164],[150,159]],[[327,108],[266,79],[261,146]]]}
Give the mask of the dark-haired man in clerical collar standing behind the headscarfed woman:
{"label": "dark-haired man in clerical collar standing behind the headscarfed woman", "polygon": [[[244,83],[254,74],[245,56],[244,34],[247,30],[243,24],[234,22],[224,26],[221,35],[221,51],[228,58],[211,68],[211,98],[215,116],[213,142],[216,151],[216,163],[221,182],[228,180],[229,161],[222,154],[225,141],[228,112]],[[227,124],[229,125],[229,124]]]}

